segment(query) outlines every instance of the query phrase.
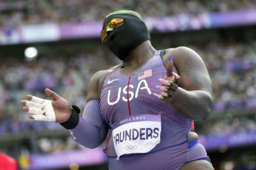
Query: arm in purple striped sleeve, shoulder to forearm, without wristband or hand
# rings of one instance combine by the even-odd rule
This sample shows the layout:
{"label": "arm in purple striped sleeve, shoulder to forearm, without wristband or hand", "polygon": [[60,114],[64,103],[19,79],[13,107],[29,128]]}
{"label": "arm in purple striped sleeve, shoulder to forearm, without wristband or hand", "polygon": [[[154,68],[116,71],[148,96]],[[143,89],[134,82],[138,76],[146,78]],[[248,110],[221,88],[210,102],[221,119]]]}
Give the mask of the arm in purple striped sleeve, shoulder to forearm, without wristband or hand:
{"label": "arm in purple striped sleeve, shoulder to forearm, without wristband or hand", "polygon": [[106,71],[95,73],[88,85],[87,103],[84,107],[83,116],[70,133],[77,143],[87,148],[100,146],[108,134],[108,125],[102,120],[100,113],[100,92]]}

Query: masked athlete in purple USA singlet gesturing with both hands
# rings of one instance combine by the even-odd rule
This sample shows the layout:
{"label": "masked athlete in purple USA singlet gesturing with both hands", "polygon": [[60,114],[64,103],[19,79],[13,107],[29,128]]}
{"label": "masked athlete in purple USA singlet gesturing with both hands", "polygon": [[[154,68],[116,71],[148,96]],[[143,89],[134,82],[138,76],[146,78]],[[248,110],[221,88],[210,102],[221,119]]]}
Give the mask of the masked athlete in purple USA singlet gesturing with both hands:
{"label": "masked athlete in purple USA singlet gesturing with both hands", "polygon": [[107,15],[100,36],[122,64],[92,76],[83,115],[50,89],[51,100],[28,95],[23,110],[33,120],[60,123],[88,148],[106,139],[109,169],[214,169],[189,131],[212,108],[211,79],[200,56],[184,46],[156,50],[135,11]]}

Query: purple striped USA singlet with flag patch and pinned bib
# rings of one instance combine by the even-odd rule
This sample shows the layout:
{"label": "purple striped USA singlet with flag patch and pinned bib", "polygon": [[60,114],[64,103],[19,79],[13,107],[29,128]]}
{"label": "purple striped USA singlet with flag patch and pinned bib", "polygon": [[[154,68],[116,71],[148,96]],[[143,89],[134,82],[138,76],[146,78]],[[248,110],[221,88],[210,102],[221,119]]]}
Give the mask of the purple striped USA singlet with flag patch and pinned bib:
{"label": "purple striped USA singlet with flag patch and pinned bib", "polygon": [[166,75],[160,52],[130,76],[120,69],[106,76],[100,96],[100,114],[109,125],[109,169],[180,169],[209,159],[204,146],[188,141],[192,120],[154,96]]}

